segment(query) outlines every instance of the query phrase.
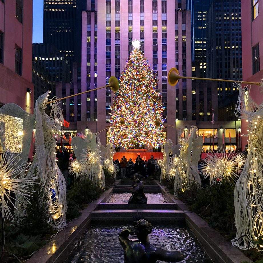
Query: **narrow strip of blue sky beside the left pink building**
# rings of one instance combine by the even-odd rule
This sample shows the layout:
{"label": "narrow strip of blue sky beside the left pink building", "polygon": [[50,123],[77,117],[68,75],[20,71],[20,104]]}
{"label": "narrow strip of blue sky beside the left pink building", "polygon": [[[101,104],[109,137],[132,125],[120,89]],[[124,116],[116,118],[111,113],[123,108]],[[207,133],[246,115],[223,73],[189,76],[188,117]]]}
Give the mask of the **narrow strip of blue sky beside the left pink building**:
{"label": "narrow strip of blue sky beside the left pink building", "polygon": [[43,43],[43,1],[33,0],[33,43]]}

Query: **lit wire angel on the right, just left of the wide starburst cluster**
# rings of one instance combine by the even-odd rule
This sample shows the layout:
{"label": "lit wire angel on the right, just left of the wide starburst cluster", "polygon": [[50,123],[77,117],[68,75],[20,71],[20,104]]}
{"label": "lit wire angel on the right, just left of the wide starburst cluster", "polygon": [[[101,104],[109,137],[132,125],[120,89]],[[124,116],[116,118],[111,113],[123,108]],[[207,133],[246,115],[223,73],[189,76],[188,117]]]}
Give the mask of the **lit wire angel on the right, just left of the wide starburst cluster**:
{"label": "lit wire angel on the right, just left of the wide starburst cluster", "polygon": [[174,176],[174,195],[184,191],[192,181],[201,185],[198,174],[198,160],[202,152],[203,138],[199,136],[198,128],[192,126],[190,131],[184,131],[185,137],[181,138],[183,130],[179,131],[178,142],[181,144],[178,164]]}

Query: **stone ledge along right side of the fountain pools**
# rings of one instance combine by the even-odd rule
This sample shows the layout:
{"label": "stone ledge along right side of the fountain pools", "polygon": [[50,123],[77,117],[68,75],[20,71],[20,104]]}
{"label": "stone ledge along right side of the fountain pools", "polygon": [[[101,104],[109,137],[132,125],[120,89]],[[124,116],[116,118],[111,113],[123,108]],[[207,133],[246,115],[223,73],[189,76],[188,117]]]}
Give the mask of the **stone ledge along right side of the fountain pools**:
{"label": "stone ledge along right side of the fountain pools", "polygon": [[[158,184],[162,188],[162,191],[166,192],[165,186],[160,185],[160,183],[157,181],[156,184]],[[188,206],[184,202],[178,200],[168,192],[166,192],[166,194],[178,205],[179,209],[184,211],[186,224],[189,226],[196,238],[202,244],[208,256],[213,260],[213,262],[252,262],[238,248],[233,247],[232,244],[226,241],[221,234],[211,228],[208,223],[198,214],[189,211]]]}

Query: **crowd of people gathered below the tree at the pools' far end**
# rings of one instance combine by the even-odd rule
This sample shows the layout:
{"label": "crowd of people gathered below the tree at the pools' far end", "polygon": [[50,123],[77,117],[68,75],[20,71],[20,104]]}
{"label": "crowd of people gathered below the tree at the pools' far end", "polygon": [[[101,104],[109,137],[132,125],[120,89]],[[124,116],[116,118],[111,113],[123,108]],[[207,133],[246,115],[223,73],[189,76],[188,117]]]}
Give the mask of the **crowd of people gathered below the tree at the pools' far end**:
{"label": "crowd of people gathered below the tree at the pools' far end", "polygon": [[143,177],[148,177],[154,175],[154,160],[153,155],[151,155],[148,160],[146,160],[146,156],[142,159],[140,155],[138,155],[135,161],[133,161],[132,158],[127,160],[127,158],[123,156],[121,160],[113,160],[113,164],[116,164],[119,168],[118,176],[121,176],[121,178],[133,178],[135,173],[140,173]]}

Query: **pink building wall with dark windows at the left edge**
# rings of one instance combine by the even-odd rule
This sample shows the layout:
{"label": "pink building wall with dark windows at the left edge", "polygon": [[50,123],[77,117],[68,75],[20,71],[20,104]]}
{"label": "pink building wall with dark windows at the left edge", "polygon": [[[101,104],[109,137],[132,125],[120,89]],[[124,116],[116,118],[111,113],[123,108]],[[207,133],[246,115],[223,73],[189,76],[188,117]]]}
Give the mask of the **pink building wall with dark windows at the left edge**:
{"label": "pink building wall with dark windows at the left edge", "polygon": [[0,14],[0,104],[15,103],[33,113],[33,1],[0,1]]}

